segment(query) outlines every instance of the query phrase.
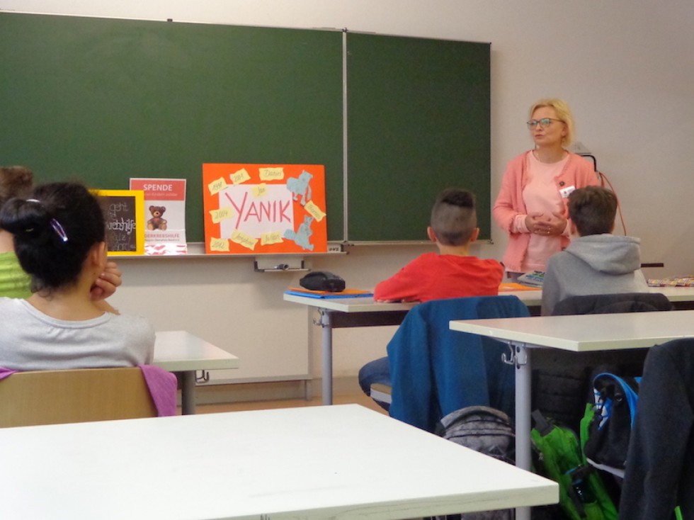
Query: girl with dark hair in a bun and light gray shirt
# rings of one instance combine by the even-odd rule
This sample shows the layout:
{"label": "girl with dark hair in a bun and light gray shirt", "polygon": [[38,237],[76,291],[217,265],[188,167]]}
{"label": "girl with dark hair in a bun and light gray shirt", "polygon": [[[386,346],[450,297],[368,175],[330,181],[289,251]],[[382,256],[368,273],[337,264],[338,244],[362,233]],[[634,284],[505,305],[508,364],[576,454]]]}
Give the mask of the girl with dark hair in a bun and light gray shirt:
{"label": "girl with dark hair in a bun and light gray shirt", "polygon": [[106,269],[98,200],[79,183],[51,183],[8,200],[0,227],[30,276],[26,300],[0,298],[0,366],[15,370],[151,363],[154,329],[92,296]]}

